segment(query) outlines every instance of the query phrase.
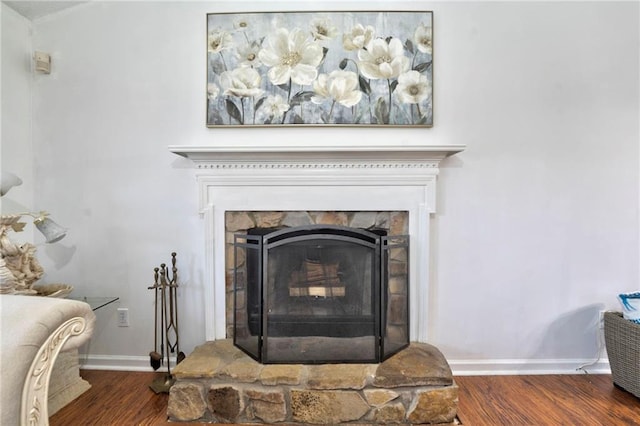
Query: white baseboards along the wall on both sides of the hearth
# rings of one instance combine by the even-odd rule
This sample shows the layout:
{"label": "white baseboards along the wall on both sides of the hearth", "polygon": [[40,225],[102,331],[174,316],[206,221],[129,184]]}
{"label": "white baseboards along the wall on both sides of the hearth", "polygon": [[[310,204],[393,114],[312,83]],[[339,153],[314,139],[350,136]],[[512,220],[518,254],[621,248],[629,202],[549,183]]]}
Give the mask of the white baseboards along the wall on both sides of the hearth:
{"label": "white baseboards along the wall on both sides of the hearth", "polygon": [[[611,374],[607,359],[596,362],[589,359],[453,359],[448,362],[454,376]],[[173,366],[174,363],[175,360],[172,360],[171,365]],[[80,368],[83,370],[153,371],[148,356],[80,355]],[[158,371],[166,371],[166,366]]]}

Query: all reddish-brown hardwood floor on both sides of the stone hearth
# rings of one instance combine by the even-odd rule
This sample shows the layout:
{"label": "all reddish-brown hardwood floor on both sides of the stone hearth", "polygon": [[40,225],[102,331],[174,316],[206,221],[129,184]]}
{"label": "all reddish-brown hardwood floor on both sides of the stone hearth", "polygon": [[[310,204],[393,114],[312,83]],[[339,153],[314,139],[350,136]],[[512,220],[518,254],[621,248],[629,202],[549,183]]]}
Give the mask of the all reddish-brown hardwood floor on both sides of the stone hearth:
{"label": "all reddish-brown hardwood floor on both sides of the stone hearth", "polygon": [[[83,370],[92,387],[53,415],[51,426],[193,425],[166,420],[167,394],[149,389],[155,373]],[[640,425],[640,398],[608,375],[459,376],[463,425]]]}

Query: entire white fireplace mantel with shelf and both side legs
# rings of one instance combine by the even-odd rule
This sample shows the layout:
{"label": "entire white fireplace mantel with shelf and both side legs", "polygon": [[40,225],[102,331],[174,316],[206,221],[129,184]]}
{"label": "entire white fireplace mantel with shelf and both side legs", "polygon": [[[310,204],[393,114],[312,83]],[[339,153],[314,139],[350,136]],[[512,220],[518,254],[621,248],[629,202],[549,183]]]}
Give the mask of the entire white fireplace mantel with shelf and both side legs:
{"label": "entire white fireplace mantel with shelf and both side legs", "polygon": [[430,214],[440,162],[464,145],[194,146],[169,150],[193,161],[205,233],[205,337],[225,333],[225,212],[407,211],[410,338],[426,342]]}

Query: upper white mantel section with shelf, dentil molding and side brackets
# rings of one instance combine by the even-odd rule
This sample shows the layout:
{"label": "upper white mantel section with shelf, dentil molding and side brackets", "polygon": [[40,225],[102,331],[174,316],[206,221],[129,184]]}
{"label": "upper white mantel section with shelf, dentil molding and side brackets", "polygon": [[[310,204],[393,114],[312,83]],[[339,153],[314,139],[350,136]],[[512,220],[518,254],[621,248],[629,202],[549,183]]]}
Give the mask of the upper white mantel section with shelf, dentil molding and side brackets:
{"label": "upper white mantel section with shelf, dentil molding and side brackets", "polygon": [[[429,213],[435,213],[435,177],[444,158],[465,145],[423,146],[195,146],[169,151],[206,170],[199,176],[200,213],[208,208],[206,184],[229,186],[431,185]],[[286,171],[286,172],[285,172]],[[283,173],[285,172],[285,173]],[[207,178],[207,176],[209,178]],[[204,191],[204,192],[203,192]]]}

